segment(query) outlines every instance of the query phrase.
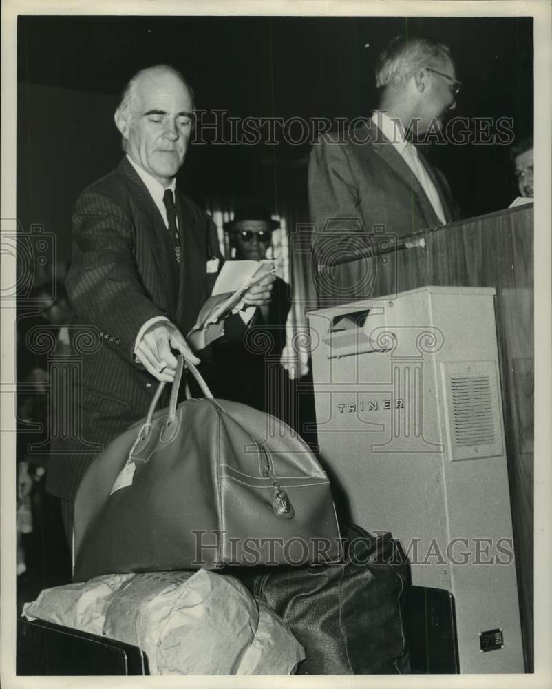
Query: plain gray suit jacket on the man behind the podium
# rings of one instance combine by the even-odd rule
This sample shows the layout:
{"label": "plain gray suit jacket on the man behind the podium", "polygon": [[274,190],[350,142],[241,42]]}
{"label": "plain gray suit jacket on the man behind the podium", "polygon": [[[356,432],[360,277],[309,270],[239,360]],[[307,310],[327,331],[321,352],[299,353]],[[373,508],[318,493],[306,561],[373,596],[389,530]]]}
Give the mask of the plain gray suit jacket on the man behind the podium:
{"label": "plain gray suit jacket on the man behind the podium", "polygon": [[[341,137],[341,140],[339,140]],[[443,174],[420,153],[439,194],[447,223],[460,218]],[[317,263],[331,265],[334,296],[347,300],[348,286],[358,285],[364,262],[354,260],[375,233],[392,241],[442,225],[410,167],[381,131],[368,120],[352,134],[332,132],[312,147],[308,167],[310,220],[315,223],[312,249]],[[327,282],[327,280],[326,280]],[[332,285],[322,285],[331,296]],[[353,294],[361,298],[369,294]]]}

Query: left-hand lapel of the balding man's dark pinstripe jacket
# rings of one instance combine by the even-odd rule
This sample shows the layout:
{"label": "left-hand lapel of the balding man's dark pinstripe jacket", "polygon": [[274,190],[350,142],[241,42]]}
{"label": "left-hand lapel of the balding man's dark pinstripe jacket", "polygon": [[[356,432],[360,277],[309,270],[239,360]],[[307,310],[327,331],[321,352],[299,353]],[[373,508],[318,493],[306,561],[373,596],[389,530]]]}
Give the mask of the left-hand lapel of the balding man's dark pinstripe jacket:
{"label": "left-hand lapel of the balding man's dark pinstripe jacket", "polygon": [[[126,157],[119,163],[117,169],[118,172],[125,177],[127,183],[129,183],[132,195],[147,220],[147,225],[137,226],[136,232],[139,232],[141,229],[142,232],[147,233],[145,241],[149,243],[151,256],[153,256],[160,283],[164,288],[167,304],[169,305],[167,311],[173,316],[174,313],[176,313],[178,274],[176,271],[176,262],[171,253],[173,247],[169,238],[169,233],[167,232],[167,227],[165,227],[164,220],[158,207],[153,202],[153,198],[151,198],[151,194],[147,190],[147,187]],[[153,229],[152,232],[147,229],[150,227]]]}

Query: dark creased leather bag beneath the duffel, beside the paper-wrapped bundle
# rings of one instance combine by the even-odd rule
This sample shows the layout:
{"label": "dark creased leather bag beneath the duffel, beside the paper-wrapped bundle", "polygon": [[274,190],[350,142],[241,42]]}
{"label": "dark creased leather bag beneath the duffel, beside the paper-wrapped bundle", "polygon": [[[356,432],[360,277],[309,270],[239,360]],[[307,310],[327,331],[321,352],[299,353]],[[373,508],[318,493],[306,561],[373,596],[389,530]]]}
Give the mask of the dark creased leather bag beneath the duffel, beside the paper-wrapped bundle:
{"label": "dark creased leather bag beneath the duffel, beside the paper-wrapped bundle", "polygon": [[370,533],[356,524],[343,531],[342,563],[237,575],[304,647],[298,675],[409,673],[407,557],[390,533]]}

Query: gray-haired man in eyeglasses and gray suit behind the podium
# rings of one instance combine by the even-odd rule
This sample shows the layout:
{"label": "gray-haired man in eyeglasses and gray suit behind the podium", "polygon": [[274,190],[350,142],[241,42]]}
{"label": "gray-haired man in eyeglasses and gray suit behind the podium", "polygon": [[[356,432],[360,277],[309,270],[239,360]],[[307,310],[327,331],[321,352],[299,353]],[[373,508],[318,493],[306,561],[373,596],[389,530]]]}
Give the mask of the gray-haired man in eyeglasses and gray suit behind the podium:
{"label": "gray-haired man in eyeglasses and gray suit behind the podium", "polygon": [[460,217],[445,177],[412,143],[440,130],[456,107],[461,84],[449,48],[396,37],[375,76],[380,96],[372,116],[354,130],[323,134],[310,154],[313,250],[319,266],[332,265],[334,294],[324,296],[339,293],[341,301],[369,296],[359,294],[363,265],[354,260],[370,244],[366,235],[401,237]]}

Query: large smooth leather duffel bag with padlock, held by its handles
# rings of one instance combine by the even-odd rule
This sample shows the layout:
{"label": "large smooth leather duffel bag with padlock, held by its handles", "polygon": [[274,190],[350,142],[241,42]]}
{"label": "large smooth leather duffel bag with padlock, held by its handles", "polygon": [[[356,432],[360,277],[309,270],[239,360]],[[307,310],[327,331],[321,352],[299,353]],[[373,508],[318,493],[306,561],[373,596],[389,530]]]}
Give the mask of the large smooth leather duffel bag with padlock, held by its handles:
{"label": "large smooth leather duffel bag with padlock, held by its handles", "polygon": [[328,476],[295,432],[244,404],[177,404],[114,440],[83,477],[74,509],[74,581],[112,573],[341,559]]}

